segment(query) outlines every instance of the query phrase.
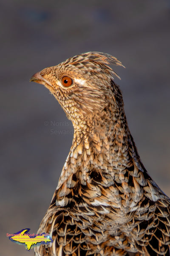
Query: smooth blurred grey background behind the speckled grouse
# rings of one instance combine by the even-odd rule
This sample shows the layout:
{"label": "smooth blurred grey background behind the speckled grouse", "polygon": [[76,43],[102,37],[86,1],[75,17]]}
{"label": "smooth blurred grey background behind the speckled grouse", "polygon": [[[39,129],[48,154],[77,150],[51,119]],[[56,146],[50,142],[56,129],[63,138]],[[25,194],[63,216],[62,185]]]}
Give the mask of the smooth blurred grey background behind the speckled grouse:
{"label": "smooth blurred grey background behind the speckled grouse", "polygon": [[73,55],[101,51],[114,68],[144,166],[170,196],[170,1],[1,0],[0,243],[33,256],[7,233],[36,233],[56,189],[73,127],[30,77]]}

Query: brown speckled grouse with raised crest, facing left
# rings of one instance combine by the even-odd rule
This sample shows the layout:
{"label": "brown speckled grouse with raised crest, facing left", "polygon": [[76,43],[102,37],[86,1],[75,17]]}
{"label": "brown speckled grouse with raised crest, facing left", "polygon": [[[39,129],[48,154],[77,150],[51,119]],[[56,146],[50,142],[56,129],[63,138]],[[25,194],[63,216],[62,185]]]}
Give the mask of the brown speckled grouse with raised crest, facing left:
{"label": "brown speckled grouse with raised crest, facing left", "polygon": [[170,198],[150,177],[127,125],[124,67],[85,52],[35,73],[73,123],[74,137],[37,233],[53,242],[35,256],[170,256]]}

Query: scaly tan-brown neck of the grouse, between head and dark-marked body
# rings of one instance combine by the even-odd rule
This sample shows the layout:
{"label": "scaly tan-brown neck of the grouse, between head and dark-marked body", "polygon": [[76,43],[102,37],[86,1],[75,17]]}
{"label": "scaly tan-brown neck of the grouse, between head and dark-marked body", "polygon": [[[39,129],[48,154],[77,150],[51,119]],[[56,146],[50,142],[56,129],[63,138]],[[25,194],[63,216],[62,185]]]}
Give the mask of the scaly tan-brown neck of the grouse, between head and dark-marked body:
{"label": "scaly tan-brown neck of the grouse, between head and dark-marked body", "polygon": [[90,123],[84,122],[82,125],[79,124],[79,128],[74,127],[73,144],[57,189],[63,187],[63,184],[67,188],[74,186],[73,176],[83,185],[91,183],[93,170],[114,176],[134,163],[140,166],[139,155],[127,126],[124,111],[121,110],[121,113],[121,116],[117,113],[112,116],[93,116]]}

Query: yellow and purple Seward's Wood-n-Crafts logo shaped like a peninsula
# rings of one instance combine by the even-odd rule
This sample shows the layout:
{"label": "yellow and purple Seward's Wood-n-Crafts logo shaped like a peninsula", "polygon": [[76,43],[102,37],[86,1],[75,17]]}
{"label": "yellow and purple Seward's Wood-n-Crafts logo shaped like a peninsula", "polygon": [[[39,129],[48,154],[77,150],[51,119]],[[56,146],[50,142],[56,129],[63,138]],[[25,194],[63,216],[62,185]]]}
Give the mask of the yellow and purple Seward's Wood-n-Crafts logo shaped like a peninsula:
{"label": "yellow and purple Seward's Wood-n-Crafts logo shaped like a peninsula", "polygon": [[26,250],[33,249],[33,247],[39,246],[40,244],[48,244],[53,242],[49,234],[29,234],[29,230],[30,228],[27,228],[14,234],[7,233],[6,236],[8,236],[9,240],[14,243],[23,244],[26,247]]}

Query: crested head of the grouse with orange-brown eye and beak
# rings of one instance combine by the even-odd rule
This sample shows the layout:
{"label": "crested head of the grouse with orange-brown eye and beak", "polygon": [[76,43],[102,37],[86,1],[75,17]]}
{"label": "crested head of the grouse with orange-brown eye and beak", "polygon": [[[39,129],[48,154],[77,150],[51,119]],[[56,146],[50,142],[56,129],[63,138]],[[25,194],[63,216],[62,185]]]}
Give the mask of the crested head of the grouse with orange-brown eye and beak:
{"label": "crested head of the grouse with orange-brown eye and beak", "polygon": [[[115,57],[102,52],[76,55],[54,67],[35,73],[30,81],[44,84],[64,109],[74,128],[80,128],[109,108],[123,105],[119,87],[113,78],[119,76],[108,66],[122,66]],[[117,100],[121,104],[117,104]]]}

